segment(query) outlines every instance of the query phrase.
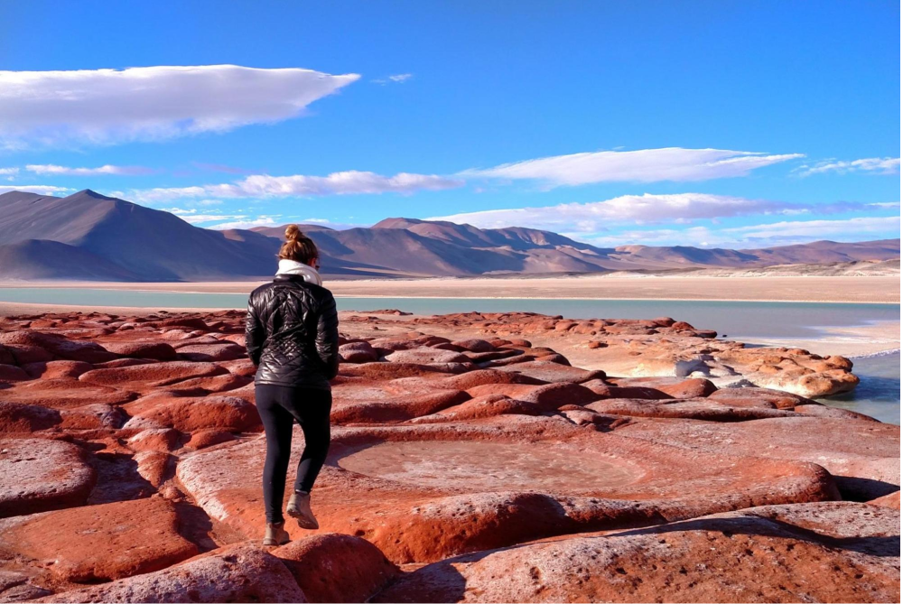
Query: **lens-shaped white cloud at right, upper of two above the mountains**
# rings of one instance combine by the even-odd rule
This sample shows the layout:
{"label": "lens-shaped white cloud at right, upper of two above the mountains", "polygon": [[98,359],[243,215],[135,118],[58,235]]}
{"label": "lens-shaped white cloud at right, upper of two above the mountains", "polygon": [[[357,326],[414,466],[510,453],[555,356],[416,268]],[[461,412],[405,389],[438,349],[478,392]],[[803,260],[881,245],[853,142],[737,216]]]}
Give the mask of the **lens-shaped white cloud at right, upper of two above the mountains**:
{"label": "lens-shaped white cloud at right, upper of two above the mountains", "polygon": [[468,170],[461,176],[527,179],[543,181],[550,187],[614,181],[707,181],[746,176],[757,168],[800,157],[804,155],[669,147],[556,155],[488,170]]}

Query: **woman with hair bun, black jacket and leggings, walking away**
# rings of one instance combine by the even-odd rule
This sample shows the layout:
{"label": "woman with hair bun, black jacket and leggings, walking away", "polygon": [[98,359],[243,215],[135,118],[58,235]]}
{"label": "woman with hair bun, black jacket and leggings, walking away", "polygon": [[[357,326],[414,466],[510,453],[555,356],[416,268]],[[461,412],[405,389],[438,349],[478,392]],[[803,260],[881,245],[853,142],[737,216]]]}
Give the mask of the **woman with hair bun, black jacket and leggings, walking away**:
{"label": "woman with hair bun, black jacket and leggings, walking away", "polygon": [[311,511],[311,488],[330,448],[339,317],[319,268],[317,246],[289,225],[273,283],[258,287],[247,301],[247,356],[257,366],[256,404],[266,432],[264,545],[289,540],[281,507],[295,421],[304,432],[304,452],[285,512],[302,528],[320,527]]}

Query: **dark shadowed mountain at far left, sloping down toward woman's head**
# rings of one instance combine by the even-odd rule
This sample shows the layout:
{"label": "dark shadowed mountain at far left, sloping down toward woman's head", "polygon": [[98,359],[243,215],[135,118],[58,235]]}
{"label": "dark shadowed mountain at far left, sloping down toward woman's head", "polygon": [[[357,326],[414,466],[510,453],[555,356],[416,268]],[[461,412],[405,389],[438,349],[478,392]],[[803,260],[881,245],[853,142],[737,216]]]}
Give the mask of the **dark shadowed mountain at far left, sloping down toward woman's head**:
{"label": "dark shadowed mountain at far left, sloping down toward woman's head", "polygon": [[[191,281],[235,279],[272,273],[272,237],[242,231],[192,227],[169,212],[82,190],[65,198],[13,191],[0,195],[0,246],[29,240],[77,248],[95,265],[81,273],[107,281]],[[32,248],[35,252],[39,247]],[[68,274],[66,255],[54,259],[41,247],[34,262],[41,274]],[[12,253],[12,252],[11,252]],[[18,252],[21,257],[22,251]],[[88,256],[84,256],[87,254]],[[38,257],[40,256],[40,257]],[[35,265],[37,271],[37,265]],[[0,274],[23,269],[0,265]],[[27,274],[19,278],[29,278]],[[41,278],[35,274],[30,278]],[[78,278],[74,275],[70,278]]]}

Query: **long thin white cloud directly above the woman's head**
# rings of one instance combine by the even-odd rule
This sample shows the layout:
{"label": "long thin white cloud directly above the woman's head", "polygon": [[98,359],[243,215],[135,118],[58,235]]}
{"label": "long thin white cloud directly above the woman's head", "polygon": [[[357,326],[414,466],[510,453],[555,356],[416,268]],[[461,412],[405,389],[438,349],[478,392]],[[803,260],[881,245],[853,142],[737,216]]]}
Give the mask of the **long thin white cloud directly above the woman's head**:
{"label": "long thin white cloud directly above the woman's head", "polygon": [[230,184],[208,184],[195,187],[175,187],[133,190],[125,193],[129,199],[163,201],[197,197],[273,198],[309,197],[324,195],[356,195],[362,193],[413,193],[417,190],[443,190],[463,186],[459,179],[435,174],[381,176],[374,172],[333,172],[328,176],[268,176],[255,174]]}

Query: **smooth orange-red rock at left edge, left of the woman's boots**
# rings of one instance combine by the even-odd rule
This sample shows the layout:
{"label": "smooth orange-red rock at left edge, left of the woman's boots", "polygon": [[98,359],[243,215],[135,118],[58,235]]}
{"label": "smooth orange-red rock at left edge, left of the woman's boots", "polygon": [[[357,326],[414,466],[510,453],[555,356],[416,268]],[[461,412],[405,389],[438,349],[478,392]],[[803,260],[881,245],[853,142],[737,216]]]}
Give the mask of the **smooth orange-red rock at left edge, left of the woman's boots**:
{"label": "smooth orange-red rock at left edge, left of the woman's boots", "polygon": [[0,548],[61,581],[96,582],[159,571],[198,553],[162,497],[74,507],[0,521]]}

